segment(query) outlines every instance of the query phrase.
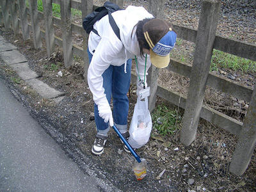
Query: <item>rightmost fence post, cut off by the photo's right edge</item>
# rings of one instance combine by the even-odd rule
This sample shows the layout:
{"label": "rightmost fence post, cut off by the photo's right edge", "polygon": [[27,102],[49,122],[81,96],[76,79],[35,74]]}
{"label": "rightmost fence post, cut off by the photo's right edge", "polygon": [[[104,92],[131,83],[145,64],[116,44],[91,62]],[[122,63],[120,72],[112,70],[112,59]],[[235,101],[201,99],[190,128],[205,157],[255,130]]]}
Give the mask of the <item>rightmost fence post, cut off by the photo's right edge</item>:
{"label": "rightmost fence post, cut off by the photo's right edge", "polygon": [[256,144],[256,85],[252,93],[250,106],[244,118],[243,127],[239,134],[236,150],[230,163],[230,172],[242,175],[253,154]]}

